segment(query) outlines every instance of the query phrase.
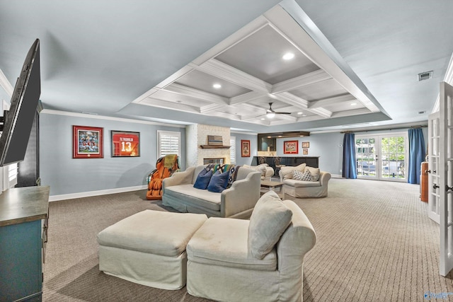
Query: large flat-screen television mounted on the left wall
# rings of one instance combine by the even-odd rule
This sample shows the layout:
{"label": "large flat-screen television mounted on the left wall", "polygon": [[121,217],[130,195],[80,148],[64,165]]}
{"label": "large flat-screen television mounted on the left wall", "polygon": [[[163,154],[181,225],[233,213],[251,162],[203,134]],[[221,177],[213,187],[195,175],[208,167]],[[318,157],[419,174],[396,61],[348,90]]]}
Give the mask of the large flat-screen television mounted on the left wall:
{"label": "large flat-screen television mounted on the left wall", "polygon": [[0,137],[0,167],[25,158],[41,95],[40,40],[36,39],[23,62],[9,110],[4,111]]}

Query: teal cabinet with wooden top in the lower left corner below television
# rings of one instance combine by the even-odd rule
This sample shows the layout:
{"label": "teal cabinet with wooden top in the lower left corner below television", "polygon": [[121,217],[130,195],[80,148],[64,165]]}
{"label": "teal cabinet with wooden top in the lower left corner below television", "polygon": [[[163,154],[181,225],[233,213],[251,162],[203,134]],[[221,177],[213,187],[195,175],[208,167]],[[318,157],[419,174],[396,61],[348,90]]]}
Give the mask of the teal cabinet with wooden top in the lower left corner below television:
{"label": "teal cabinet with wooden top in the lower left corner below television", "polygon": [[49,187],[0,194],[0,301],[41,301]]}

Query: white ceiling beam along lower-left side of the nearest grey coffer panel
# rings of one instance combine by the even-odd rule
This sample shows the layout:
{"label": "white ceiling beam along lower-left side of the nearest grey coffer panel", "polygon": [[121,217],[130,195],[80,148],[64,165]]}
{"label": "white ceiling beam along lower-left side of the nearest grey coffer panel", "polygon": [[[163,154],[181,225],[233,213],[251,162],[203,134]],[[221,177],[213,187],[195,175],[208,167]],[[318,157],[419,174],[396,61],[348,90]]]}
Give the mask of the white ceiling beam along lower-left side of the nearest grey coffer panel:
{"label": "white ceiling beam along lower-left side of the nearest grey coffer panel", "polygon": [[259,91],[262,93],[270,93],[272,85],[265,81],[257,79],[255,76],[246,74],[245,72],[224,64],[216,59],[210,59],[209,61],[197,66],[193,63],[189,64],[193,69],[205,72],[219,79],[235,83],[241,87],[250,89],[251,91]]}

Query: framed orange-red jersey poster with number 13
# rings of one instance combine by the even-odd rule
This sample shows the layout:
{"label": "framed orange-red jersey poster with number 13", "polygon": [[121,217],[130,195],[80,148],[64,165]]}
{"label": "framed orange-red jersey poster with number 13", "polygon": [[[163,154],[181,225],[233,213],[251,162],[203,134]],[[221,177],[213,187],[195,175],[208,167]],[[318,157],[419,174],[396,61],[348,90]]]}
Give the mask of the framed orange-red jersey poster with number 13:
{"label": "framed orange-red jersey poster with number 13", "polygon": [[140,132],[112,130],[112,157],[140,156]]}

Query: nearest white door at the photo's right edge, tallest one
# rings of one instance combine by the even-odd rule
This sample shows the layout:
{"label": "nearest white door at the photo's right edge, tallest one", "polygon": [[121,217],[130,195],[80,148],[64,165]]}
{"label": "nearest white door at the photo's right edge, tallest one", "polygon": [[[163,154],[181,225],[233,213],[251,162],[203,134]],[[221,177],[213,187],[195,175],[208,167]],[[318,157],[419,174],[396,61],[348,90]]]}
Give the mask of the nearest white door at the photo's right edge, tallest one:
{"label": "nearest white door at the photo's right edge, tallest one", "polygon": [[440,274],[453,269],[453,87],[440,83]]}

